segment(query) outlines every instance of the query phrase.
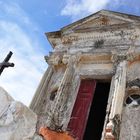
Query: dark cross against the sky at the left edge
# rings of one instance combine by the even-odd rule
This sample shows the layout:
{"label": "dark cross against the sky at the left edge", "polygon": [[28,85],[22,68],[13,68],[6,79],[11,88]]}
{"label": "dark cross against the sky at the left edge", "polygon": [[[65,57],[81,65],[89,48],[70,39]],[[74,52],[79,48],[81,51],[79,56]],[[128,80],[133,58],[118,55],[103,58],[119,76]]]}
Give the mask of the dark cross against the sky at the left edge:
{"label": "dark cross against the sky at the left edge", "polygon": [[9,54],[5,57],[2,63],[0,63],[0,75],[3,72],[3,70],[7,67],[14,67],[14,63],[9,63],[8,61],[10,60],[12,56],[12,52],[10,51]]}

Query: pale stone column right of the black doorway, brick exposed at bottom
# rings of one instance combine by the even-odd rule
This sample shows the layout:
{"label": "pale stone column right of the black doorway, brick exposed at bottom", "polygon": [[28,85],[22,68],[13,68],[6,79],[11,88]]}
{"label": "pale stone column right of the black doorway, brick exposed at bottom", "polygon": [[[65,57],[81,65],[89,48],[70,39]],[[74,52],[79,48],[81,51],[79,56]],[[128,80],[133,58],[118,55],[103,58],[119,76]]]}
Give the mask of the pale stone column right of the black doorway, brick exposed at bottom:
{"label": "pale stone column right of the black doorway, brick exposed at bottom", "polygon": [[115,88],[109,115],[109,123],[106,126],[105,140],[117,140],[119,137],[119,125],[126,88],[126,67],[126,60],[120,61],[116,67],[114,80]]}

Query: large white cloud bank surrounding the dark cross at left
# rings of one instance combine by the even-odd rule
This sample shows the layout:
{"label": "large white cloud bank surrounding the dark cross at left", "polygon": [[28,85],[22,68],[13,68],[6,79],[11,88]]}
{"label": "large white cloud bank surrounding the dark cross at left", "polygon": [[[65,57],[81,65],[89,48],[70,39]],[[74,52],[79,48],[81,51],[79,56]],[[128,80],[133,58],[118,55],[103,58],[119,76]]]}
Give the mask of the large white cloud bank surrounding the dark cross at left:
{"label": "large white cloud bank surrounding the dark cross at left", "polygon": [[[30,32],[36,28],[17,4],[15,6],[3,3],[3,12],[11,13],[11,18],[18,17],[21,22],[29,26]],[[42,74],[47,68],[43,59],[44,54],[39,46],[40,42],[31,34],[24,30],[23,23],[21,26],[14,20],[0,18],[0,61],[9,51],[12,51],[14,54],[10,62],[15,63],[14,68],[5,69],[0,76],[0,86],[4,87],[16,100],[26,105],[29,105]]]}

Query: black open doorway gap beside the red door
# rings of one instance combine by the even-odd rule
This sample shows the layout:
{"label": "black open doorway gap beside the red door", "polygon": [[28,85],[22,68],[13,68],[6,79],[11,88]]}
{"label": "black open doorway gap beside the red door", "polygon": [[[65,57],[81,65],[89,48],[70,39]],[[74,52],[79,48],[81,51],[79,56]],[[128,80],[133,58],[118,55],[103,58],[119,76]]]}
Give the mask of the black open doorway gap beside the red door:
{"label": "black open doorway gap beside the red door", "polygon": [[97,82],[83,140],[101,139],[109,90],[110,83]]}

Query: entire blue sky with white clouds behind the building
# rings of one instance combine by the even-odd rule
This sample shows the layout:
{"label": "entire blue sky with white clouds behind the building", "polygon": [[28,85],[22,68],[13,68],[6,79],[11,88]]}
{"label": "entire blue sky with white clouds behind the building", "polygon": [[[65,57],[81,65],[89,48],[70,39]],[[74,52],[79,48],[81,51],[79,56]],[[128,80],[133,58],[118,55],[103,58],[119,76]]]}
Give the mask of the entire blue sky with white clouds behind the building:
{"label": "entire blue sky with white clouds behind the building", "polygon": [[29,105],[47,69],[51,50],[44,33],[108,9],[140,16],[139,0],[0,0],[0,61],[13,51],[14,68],[4,70],[0,86]]}

